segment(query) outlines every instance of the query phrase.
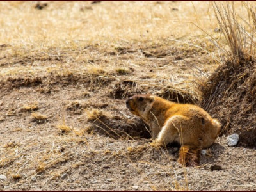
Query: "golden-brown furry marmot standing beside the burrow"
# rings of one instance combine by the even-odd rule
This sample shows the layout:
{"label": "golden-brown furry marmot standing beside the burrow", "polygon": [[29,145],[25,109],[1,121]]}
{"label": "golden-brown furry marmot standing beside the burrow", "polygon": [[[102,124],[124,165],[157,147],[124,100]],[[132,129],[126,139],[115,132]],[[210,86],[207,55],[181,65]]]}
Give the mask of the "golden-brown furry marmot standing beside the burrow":
{"label": "golden-brown furry marmot standing beside the burrow", "polygon": [[210,147],[220,133],[220,122],[193,104],[147,94],[130,97],[126,106],[149,125],[157,145],[181,144],[178,161],[184,166],[197,166],[202,148]]}

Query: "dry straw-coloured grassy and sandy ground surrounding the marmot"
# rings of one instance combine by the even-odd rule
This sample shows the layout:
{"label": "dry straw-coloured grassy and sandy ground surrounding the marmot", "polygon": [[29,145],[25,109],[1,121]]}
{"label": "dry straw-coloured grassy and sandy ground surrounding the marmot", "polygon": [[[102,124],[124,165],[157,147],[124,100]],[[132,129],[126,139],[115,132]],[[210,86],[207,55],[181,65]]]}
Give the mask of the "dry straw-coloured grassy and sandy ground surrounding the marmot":
{"label": "dry straw-coloured grassy and sandy ground surrounding the marmot", "polygon": [[125,109],[136,93],[201,99],[221,52],[188,22],[221,42],[211,3],[35,6],[0,3],[1,190],[256,188],[255,149],[228,147],[222,136],[200,166],[182,168],[177,146],[153,149]]}

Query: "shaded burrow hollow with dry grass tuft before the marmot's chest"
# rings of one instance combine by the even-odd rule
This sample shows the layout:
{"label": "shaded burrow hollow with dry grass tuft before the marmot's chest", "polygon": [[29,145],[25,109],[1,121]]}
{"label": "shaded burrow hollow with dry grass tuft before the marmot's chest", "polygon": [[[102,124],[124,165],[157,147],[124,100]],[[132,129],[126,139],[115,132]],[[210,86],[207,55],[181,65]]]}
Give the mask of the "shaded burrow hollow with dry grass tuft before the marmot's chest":
{"label": "shaded burrow hollow with dry grass tuft before the marmot's chest", "polygon": [[130,120],[97,109],[88,111],[87,118],[88,122],[92,123],[86,130],[87,132],[97,132],[97,134],[114,139],[150,138],[150,133],[147,131],[148,127],[139,118]]}

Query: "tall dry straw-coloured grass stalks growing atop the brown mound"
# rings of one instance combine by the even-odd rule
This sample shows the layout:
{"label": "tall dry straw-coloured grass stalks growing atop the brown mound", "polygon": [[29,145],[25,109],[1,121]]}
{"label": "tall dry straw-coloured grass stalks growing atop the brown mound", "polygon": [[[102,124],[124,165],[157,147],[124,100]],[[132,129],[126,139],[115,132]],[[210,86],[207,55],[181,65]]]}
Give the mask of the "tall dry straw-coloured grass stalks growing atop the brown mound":
{"label": "tall dry straw-coloured grass stalks growing atop the brown mound", "polygon": [[255,54],[256,10],[252,2],[243,2],[243,14],[237,13],[234,2],[213,3],[214,13],[228,45],[216,44],[226,58],[246,58]]}

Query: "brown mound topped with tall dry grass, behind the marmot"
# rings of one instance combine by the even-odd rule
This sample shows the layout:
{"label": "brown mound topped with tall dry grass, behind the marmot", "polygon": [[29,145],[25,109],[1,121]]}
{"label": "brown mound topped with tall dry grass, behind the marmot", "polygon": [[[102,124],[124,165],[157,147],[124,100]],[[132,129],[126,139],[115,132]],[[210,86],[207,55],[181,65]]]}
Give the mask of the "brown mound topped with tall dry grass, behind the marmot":
{"label": "brown mound topped with tall dry grass, behind the marmot", "polygon": [[253,19],[253,24],[247,22],[252,31],[242,27],[233,6],[216,6],[216,17],[230,51],[223,65],[202,86],[201,105],[223,124],[222,134],[236,132],[239,134],[238,145],[253,147],[256,146],[256,61],[253,38],[256,14],[245,5],[251,15],[249,17]]}

